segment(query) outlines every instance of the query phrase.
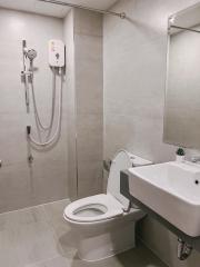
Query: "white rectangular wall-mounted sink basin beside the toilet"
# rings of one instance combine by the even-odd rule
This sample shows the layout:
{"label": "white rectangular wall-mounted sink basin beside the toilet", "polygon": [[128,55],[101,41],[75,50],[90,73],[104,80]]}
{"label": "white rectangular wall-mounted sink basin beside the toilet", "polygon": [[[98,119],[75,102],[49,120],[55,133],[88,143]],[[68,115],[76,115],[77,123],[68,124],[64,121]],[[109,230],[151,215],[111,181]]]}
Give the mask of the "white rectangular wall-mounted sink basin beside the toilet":
{"label": "white rectangular wall-mounted sink basin beside the toilet", "polygon": [[164,162],[129,169],[132,197],[191,237],[200,236],[200,166]]}

